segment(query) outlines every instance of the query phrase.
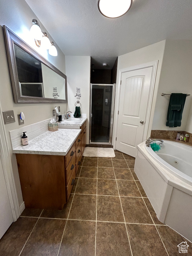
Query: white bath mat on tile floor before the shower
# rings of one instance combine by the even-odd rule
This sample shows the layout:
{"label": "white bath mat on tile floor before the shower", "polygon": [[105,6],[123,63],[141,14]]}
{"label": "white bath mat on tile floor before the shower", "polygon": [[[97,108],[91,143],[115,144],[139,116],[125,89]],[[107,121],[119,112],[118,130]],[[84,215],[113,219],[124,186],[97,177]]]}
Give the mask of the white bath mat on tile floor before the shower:
{"label": "white bath mat on tile floor before the shower", "polygon": [[115,152],[113,148],[86,147],[83,151],[83,156],[115,157]]}

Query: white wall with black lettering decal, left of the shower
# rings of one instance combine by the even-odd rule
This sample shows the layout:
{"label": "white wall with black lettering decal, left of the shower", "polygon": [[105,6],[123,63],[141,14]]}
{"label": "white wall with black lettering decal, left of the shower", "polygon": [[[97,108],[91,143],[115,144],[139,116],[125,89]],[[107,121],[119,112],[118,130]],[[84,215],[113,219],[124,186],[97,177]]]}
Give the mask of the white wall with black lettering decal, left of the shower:
{"label": "white wall with black lettering decal, left of the shower", "polygon": [[[77,88],[81,89],[81,113],[87,114],[87,142],[89,144],[89,113],[90,113],[90,56],[65,56],[68,109],[75,112]],[[79,104],[77,105],[79,106]]]}

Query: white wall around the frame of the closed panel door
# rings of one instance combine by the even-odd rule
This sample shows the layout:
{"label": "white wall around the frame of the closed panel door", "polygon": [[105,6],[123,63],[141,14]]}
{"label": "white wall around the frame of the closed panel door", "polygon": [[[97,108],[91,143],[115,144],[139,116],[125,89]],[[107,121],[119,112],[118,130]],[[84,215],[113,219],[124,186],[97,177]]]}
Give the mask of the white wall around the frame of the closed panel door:
{"label": "white wall around the frame of the closed panel door", "polygon": [[[157,91],[159,86],[159,79],[160,79],[160,73],[161,73],[161,66],[163,61],[163,54],[165,49],[165,40],[146,46],[144,48],[138,49],[133,52],[129,52],[127,54],[121,55],[118,57],[118,64],[117,64],[117,83],[119,80],[119,70],[123,68],[128,68],[152,61],[159,60],[158,67],[157,67],[157,75],[156,75],[156,81],[155,81],[155,88],[154,88],[154,94],[153,94],[153,103],[152,103],[152,109],[151,109],[151,115],[150,115],[150,123],[149,123],[149,130],[148,130],[148,137],[151,133],[152,128],[152,122],[153,122],[153,116],[154,116],[154,110],[155,110],[155,103],[156,103],[156,97],[157,97]],[[116,94],[118,84],[116,86]],[[115,112],[114,112],[114,127],[113,127],[113,141],[112,144],[114,145],[115,137],[116,137],[116,131],[117,131],[117,98],[115,99]]]}

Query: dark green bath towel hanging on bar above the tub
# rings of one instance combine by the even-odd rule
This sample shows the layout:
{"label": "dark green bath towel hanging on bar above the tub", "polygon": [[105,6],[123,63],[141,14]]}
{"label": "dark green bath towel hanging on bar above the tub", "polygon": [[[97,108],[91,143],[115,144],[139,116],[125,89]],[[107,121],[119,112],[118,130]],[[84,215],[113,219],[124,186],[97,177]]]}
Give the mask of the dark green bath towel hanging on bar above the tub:
{"label": "dark green bath towel hanging on bar above the tub", "polygon": [[166,126],[177,127],[181,126],[183,108],[185,105],[187,94],[171,93],[169,107],[167,112]]}

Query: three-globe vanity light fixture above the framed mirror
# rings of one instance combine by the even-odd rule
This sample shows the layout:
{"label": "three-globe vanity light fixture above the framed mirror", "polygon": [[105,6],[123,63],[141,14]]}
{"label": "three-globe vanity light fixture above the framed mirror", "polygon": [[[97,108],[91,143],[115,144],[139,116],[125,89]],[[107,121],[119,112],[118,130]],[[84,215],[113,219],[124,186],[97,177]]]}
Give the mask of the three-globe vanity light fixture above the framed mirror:
{"label": "three-globe vanity light fixture above the framed mirror", "polygon": [[49,50],[49,54],[52,56],[57,56],[57,49],[54,42],[50,42],[47,32],[42,32],[39,22],[36,19],[32,20],[32,27],[30,32],[35,39],[35,44],[37,47],[42,47]]}

